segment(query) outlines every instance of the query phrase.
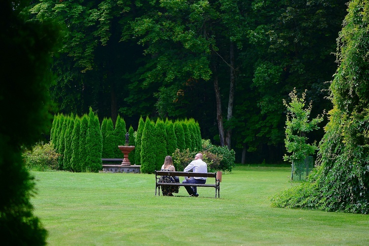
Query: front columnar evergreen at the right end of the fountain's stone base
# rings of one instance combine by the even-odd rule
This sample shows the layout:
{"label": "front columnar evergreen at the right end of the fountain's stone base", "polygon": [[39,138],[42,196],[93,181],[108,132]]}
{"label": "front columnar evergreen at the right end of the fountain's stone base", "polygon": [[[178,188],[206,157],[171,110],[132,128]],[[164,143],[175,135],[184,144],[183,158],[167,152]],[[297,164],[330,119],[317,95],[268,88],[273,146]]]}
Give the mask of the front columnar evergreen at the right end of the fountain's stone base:
{"label": "front columnar evergreen at the right end of the fountain's stone base", "polygon": [[156,141],[154,123],[146,117],[141,143],[141,172],[154,173],[156,166]]}

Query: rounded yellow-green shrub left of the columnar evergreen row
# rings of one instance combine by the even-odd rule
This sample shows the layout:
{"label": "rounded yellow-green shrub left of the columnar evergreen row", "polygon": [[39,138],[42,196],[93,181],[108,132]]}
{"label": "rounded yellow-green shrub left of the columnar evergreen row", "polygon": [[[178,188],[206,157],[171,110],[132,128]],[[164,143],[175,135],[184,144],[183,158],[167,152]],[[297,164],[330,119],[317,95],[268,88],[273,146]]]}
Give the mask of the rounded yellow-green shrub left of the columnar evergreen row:
{"label": "rounded yellow-green shrub left of the columnar evergreen row", "polygon": [[23,149],[23,159],[26,167],[30,171],[47,171],[58,169],[58,158],[61,154],[57,153],[52,143],[37,143],[32,150]]}

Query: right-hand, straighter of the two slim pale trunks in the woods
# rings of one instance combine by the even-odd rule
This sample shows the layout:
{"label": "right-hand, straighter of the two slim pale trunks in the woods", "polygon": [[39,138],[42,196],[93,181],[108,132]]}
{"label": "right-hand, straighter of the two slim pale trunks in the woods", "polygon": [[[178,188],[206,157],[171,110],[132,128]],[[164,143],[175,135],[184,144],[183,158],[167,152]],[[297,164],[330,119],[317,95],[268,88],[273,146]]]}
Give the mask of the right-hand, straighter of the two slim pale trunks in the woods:
{"label": "right-hand, straighter of the two slim pale trunks in the woods", "polygon": [[[229,57],[230,57],[230,84],[229,84],[229,100],[228,100],[228,112],[227,112],[227,121],[230,121],[233,116],[233,99],[235,94],[235,69],[234,69],[234,43],[231,42],[229,47]],[[231,136],[232,136],[232,127],[228,125],[227,132],[225,136],[225,145],[228,146],[228,149],[231,148]]]}

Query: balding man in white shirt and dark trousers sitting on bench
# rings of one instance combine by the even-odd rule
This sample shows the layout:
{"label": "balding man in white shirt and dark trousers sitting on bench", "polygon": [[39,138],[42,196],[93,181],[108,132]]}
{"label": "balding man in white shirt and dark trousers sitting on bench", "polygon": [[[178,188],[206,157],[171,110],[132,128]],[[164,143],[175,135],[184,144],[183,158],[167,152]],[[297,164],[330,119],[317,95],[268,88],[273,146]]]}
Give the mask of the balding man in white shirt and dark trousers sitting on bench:
{"label": "balding man in white shirt and dark trousers sitting on bench", "polygon": [[[185,168],[184,172],[191,171],[194,173],[207,173],[208,166],[205,161],[202,160],[202,154],[198,153],[195,155],[195,159],[191,161]],[[183,184],[205,184],[206,178],[205,177],[184,177],[185,180],[182,182]],[[189,194],[189,196],[199,196],[197,194],[197,187],[196,186],[184,186]]]}

